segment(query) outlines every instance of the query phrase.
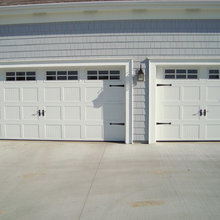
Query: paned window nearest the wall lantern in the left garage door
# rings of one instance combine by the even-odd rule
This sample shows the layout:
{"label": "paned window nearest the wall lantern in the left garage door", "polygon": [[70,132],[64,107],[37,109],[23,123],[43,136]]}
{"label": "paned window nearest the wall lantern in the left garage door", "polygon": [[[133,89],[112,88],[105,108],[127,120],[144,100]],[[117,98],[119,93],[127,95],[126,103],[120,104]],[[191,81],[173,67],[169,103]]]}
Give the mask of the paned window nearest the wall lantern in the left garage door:
{"label": "paned window nearest the wall lantern in the left garage door", "polygon": [[87,71],[88,80],[120,80],[119,70],[89,70]]}

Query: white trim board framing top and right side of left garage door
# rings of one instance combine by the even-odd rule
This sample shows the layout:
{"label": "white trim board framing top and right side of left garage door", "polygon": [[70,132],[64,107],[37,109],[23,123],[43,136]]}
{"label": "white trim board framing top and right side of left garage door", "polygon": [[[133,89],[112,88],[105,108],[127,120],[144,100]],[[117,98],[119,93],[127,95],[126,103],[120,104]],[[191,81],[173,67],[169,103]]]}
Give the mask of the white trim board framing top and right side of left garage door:
{"label": "white trim board framing top and right side of left garage door", "polygon": [[0,63],[0,70],[15,68],[46,68],[46,67],[86,67],[86,66],[123,66],[125,68],[125,143],[132,144],[132,75],[133,60],[131,59],[96,59],[96,60],[51,60],[51,61],[23,61]]}

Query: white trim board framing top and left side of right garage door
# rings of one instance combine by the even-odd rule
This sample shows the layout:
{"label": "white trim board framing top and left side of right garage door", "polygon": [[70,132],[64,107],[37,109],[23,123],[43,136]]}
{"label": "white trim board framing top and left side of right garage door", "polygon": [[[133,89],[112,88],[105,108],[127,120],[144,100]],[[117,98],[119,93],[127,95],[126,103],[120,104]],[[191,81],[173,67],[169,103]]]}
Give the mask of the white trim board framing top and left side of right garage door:
{"label": "white trim board framing top and left side of right garage door", "polygon": [[148,143],[156,142],[156,70],[159,66],[211,66],[220,65],[220,59],[207,59],[194,58],[188,59],[149,59],[149,133]]}

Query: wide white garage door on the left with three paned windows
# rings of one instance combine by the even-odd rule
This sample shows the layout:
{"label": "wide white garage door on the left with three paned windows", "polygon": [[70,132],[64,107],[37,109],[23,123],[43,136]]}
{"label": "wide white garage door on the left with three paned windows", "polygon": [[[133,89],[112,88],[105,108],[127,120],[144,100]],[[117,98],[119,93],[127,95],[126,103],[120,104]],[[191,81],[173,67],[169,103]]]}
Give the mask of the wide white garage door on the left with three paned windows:
{"label": "wide white garage door on the left with three paned windows", "polygon": [[5,71],[0,94],[2,139],[125,140],[123,69]]}

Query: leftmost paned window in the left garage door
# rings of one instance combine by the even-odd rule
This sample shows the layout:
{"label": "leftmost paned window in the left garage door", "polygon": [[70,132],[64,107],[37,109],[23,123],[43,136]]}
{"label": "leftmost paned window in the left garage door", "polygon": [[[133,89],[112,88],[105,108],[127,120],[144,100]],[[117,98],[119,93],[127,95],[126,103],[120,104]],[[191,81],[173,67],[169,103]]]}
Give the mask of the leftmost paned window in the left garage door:
{"label": "leftmost paned window in the left garage door", "polygon": [[7,72],[6,81],[36,80],[35,72]]}

